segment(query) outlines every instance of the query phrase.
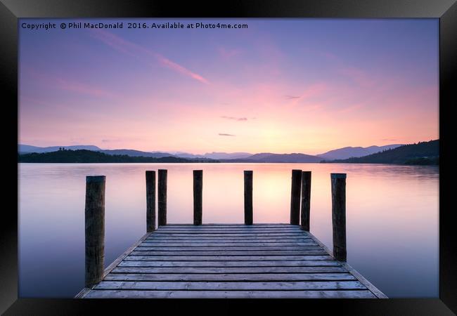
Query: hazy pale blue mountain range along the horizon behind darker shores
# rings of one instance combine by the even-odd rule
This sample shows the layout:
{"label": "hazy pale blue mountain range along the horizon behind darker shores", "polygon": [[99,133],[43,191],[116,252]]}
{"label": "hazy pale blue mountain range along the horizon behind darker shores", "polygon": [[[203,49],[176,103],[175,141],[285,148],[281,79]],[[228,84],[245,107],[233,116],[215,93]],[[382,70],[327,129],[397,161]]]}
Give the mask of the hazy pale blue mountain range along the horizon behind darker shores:
{"label": "hazy pale blue mountain range along the horizon behind darker shores", "polygon": [[144,152],[141,150],[103,150],[94,145],[71,145],[71,146],[52,146],[52,147],[37,147],[32,145],[18,145],[19,154],[27,154],[31,152],[44,153],[56,152],[60,148],[66,150],[91,150],[101,152],[108,155],[127,155],[129,157],[148,157],[148,158],[163,158],[175,157],[184,159],[198,159],[206,161],[210,159],[219,160],[220,162],[271,162],[271,163],[315,163],[323,160],[349,159],[352,157],[364,157],[383,150],[390,150],[401,146],[400,144],[385,145],[385,146],[370,146],[370,147],[343,147],[336,150],[330,150],[323,154],[311,155],[302,153],[292,154],[275,154],[272,152],[262,152],[258,154],[250,154],[248,152],[207,152],[205,154],[189,154],[188,152]]}

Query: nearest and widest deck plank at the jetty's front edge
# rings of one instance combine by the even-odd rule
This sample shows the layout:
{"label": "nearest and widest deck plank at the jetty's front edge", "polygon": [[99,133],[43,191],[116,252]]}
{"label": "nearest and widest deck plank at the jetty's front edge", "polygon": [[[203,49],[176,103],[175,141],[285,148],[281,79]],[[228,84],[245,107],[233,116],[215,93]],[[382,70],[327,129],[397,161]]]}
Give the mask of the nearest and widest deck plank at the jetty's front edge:
{"label": "nearest and widest deck plank at the jetty's front edge", "polygon": [[376,298],[371,291],[135,291],[93,290],[86,298]]}

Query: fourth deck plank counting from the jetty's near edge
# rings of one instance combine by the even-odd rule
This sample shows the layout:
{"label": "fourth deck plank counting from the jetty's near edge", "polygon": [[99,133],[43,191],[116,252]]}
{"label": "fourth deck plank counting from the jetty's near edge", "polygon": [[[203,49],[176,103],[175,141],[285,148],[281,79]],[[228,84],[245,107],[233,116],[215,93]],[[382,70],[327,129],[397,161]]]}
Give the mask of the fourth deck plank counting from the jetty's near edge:
{"label": "fourth deck plank counting from the jetty's near edge", "polygon": [[325,273],[347,272],[341,267],[120,267],[117,266],[111,273]]}

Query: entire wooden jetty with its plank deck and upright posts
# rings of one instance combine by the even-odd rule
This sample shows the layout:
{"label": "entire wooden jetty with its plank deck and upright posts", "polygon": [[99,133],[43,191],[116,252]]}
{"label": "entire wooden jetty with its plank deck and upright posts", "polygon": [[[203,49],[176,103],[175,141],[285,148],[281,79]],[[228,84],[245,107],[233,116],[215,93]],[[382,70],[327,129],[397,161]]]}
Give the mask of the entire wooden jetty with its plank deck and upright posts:
{"label": "entire wooden jetty with its plank deck and upright posts", "polygon": [[[162,222],[155,230],[148,220],[146,235],[105,270],[100,215],[104,214],[105,178],[87,178],[86,287],[76,298],[387,298],[345,262],[344,174],[331,176],[333,256],[297,223],[300,183],[305,182],[297,179],[297,171],[292,173],[293,224],[252,224],[252,172],[245,173],[245,224],[202,224],[201,171],[194,172],[194,225],[166,224],[166,173],[161,173]],[[155,185],[148,176],[155,173],[146,173],[147,186]],[[311,181],[309,173],[306,179]],[[308,192],[310,183],[302,185],[307,185]],[[147,187],[146,192],[152,201],[155,187]],[[309,199],[309,194],[302,198]],[[309,201],[302,205],[307,206],[302,218],[309,229]],[[148,204],[147,216],[155,219],[151,209]]]}

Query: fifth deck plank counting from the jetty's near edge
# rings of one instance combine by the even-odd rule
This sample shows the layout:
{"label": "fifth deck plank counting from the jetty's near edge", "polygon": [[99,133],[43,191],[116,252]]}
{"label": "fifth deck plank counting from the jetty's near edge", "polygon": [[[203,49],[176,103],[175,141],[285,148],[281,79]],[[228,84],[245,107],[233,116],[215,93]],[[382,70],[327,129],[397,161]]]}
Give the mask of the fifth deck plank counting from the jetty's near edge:
{"label": "fifth deck plank counting from the jetty's near edge", "polygon": [[119,267],[331,267],[337,261],[122,261]]}

